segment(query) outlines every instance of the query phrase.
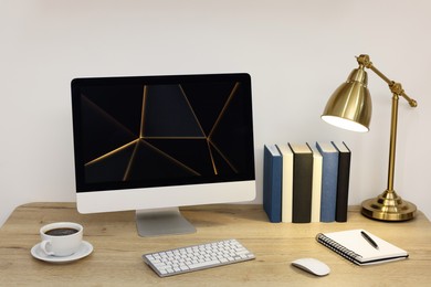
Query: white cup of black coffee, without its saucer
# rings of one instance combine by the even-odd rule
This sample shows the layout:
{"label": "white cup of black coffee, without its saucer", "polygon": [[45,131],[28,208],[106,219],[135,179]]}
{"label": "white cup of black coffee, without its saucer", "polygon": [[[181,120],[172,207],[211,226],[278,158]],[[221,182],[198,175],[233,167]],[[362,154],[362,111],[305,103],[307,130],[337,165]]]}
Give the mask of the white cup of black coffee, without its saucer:
{"label": "white cup of black coffee, without its saucer", "polygon": [[69,256],[77,252],[84,227],[73,222],[56,222],[40,230],[41,249],[50,256]]}

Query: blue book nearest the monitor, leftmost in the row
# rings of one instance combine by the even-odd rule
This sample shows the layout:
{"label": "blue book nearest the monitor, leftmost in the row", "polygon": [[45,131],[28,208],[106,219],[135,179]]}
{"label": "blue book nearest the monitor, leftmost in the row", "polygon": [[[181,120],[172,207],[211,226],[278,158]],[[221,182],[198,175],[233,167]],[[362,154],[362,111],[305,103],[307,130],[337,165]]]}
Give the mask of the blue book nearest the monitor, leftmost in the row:
{"label": "blue book nearest the monitor, leftmost in the row", "polygon": [[275,145],[263,149],[263,209],[276,223],[282,221],[282,155]]}

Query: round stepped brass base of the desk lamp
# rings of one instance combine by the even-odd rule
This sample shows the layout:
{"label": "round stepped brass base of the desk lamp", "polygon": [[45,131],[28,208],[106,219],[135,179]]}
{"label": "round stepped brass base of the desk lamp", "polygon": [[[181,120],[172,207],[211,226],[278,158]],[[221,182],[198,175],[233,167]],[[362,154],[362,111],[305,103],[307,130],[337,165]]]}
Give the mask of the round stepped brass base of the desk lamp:
{"label": "round stepped brass base of the desk lamp", "polygon": [[362,202],[362,215],[379,221],[408,221],[416,216],[413,203],[401,200],[395,191],[386,190],[376,199]]}

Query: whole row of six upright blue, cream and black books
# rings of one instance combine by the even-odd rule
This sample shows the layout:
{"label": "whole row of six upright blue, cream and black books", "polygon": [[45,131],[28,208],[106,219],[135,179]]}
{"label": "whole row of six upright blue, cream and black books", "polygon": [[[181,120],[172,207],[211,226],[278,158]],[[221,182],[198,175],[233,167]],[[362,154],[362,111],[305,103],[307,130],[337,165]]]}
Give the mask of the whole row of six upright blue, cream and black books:
{"label": "whole row of six upright blue, cream and black books", "polygon": [[345,142],[264,146],[263,208],[271,222],[346,222],[351,152]]}

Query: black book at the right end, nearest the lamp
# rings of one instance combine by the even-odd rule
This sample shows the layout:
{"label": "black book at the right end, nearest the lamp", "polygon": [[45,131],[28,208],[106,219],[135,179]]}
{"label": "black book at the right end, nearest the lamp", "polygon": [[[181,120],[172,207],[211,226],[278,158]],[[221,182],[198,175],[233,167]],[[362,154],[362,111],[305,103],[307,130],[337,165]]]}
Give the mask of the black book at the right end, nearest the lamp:
{"label": "black book at the right end, nearest the lamp", "polygon": [[[343,147],[341,147],[341,145],[343,145]],[[334,146],[339,151],[338,180],[337,180],[337,203],[336,203],[335,221],[347,222],[351,152],[347,148],[346,144],[344,144],[344,142],[334,144]],[[338,146],[340,146],[340,147],[338,147]]]}

